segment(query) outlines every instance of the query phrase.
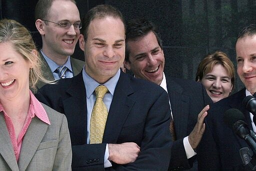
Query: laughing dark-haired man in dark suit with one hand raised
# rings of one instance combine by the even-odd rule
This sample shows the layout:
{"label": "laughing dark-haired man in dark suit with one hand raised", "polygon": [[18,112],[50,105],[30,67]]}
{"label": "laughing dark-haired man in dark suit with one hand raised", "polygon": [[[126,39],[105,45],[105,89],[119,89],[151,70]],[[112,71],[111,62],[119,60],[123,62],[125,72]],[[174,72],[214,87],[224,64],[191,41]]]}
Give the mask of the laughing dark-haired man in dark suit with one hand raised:
{"label": "laughing dark-haired man in dark suit with one hand raised", "polygon": [[[128,21],[126,30],[124,66],[131,69],[135,77],[154,82],[169,94],[174,123],[172,136],[175,136],[170,151],[169,170],[188,169],[192,166],[196,154],[194,149],[204,131],[203,119],[209,106],[203,107],[211,103],[211,100],[200,83],[165,77],[161,40],[151,22],[132,19]],[[197,170],[196,164],[192,170]]]}

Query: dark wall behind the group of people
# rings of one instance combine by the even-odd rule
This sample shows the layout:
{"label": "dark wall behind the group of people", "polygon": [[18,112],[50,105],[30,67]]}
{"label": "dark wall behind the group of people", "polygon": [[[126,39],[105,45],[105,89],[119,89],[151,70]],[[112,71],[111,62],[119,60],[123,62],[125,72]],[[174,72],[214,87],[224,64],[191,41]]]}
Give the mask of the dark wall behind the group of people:
{"label": "dark wall behind the group of people", "polygon": [[[41,36],[33,17],[36,2],[0,0],[0,18],[22,23],[40,48]],[[153,21],[163,40],[165,74],[187,79],[195,79],[200,60],[216,50],[227,53],[236,65],[236,35],[243,26],[256,20],[256,0],[76,0],[76,4],[81,18],[97,4],[111,4],[125,19],[146,17]],[[78,46],[73,56],[83,59]],[[241,87],[236,75],[235,91]]]}

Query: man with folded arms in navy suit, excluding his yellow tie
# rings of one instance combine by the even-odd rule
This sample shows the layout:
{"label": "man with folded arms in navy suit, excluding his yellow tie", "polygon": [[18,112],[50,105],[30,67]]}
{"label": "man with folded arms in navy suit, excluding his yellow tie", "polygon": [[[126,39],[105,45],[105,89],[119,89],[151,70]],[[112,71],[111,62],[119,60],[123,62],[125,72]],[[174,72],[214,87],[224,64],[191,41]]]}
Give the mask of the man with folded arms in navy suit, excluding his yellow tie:
{"label": "man with folded arms in navy suit, excluding his yellow tie", "polygon": [[[67,117],[72,170],[167,170],[172,145],[168,95],[120,70],[125,55],[120,11],[110,5],[90,9],[82,20],[79,45],[85,56],[82,72],[44,85],[36,94]],[[101,142],[91,144],[98,85],[108,89],[103,97],[108,115]]]}

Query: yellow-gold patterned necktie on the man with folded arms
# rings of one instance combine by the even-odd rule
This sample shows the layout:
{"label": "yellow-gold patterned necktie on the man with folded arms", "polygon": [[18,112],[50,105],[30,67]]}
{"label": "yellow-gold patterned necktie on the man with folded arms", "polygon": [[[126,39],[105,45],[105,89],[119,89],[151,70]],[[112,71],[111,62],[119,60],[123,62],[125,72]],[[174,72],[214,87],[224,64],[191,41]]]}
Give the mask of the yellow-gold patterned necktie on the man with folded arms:
{"label": "yellow-gold patterned necktie on the man with folded arms", "polygon": [[108,89],[104,85],[95,88],[96,100],[90,117],[90,143],[102,143],[107,118],[107,109],[103,97]]}

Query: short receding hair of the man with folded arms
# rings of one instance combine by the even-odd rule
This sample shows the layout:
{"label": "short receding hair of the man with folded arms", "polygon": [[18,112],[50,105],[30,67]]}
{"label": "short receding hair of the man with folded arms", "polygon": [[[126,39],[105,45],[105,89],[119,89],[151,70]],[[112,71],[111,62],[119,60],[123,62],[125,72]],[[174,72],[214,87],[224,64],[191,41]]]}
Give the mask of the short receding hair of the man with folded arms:
{"label": "short receding hair of the man with folded arms", "polygon": [[83,35],[84,41],[87,39],[90,22],[95,18],[105,18],[107,16],[119,18],[123,22],[125,31],[125,22],[122,13],[111,5],[101,4],[91,8],[82,18],[82,28],[80,29],[80,33]]}

